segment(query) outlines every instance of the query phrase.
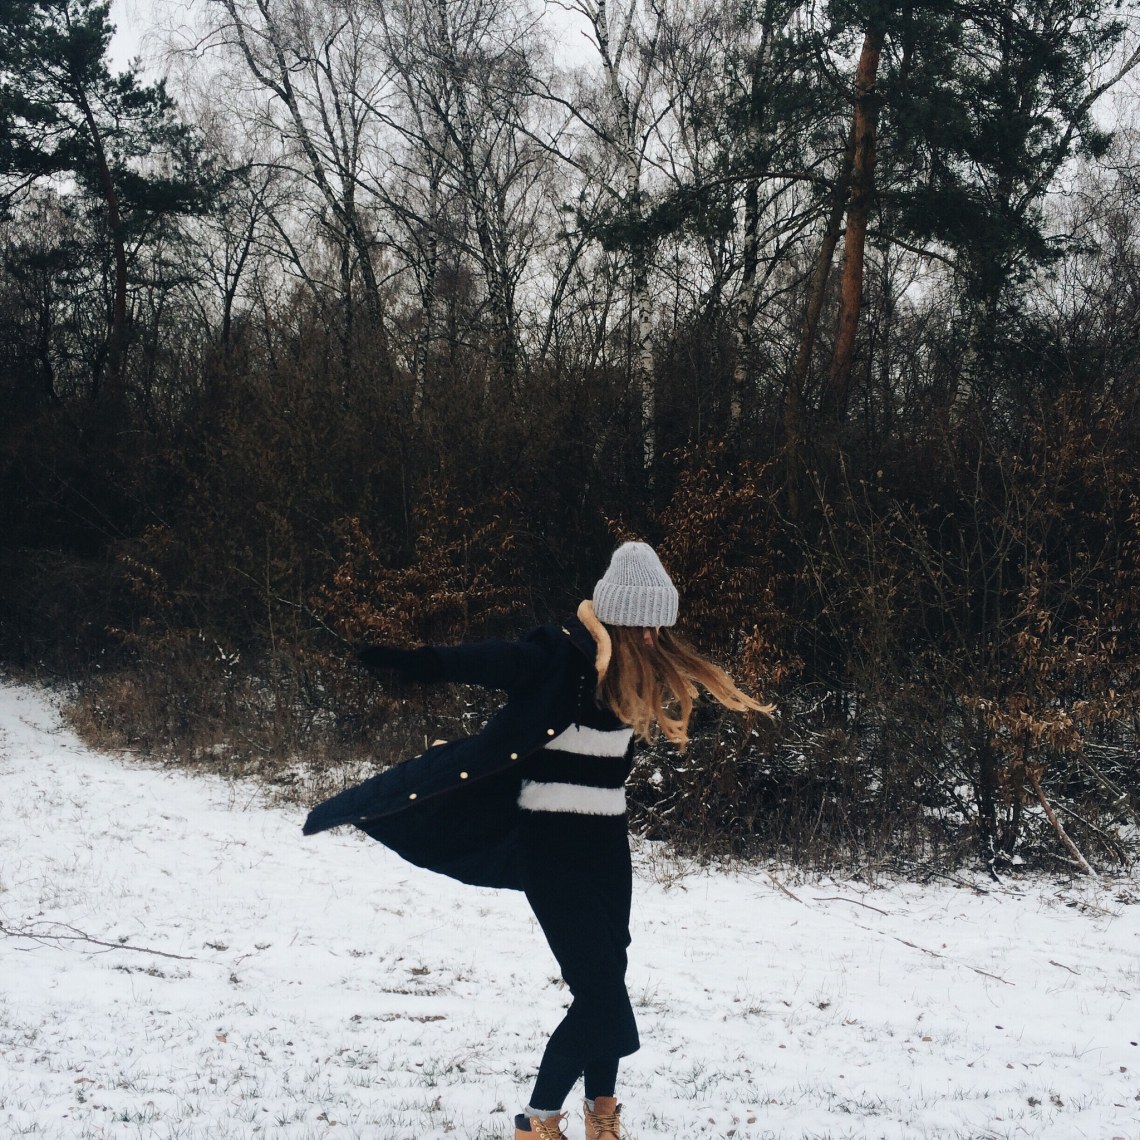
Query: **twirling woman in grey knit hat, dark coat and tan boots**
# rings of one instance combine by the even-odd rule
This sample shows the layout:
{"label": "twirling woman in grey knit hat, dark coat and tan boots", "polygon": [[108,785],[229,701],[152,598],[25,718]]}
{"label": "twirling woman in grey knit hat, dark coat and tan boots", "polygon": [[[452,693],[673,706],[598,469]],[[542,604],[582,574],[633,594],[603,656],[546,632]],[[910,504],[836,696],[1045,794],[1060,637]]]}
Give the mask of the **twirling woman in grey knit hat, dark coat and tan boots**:
{"label": "twirling woman in grey knit hat, dark coat and tan boots", "polygon": [[433,746],[306,822],[306,834],[352,823],[421,866],[526,891],[573,1000],[515,1140],[564,1140],[562,1104],[579,1077],[587,1140],[620,1140],[618,1064],[638,1048],[625,983],[633,738],[660,730],[683,749],[698,684],[730,709],[772,710],[676,638],[676,620],[657,554],[625,543],[565,626],[520,642],[364,650],[366,665],[404,679],[488,685],[507,702],[477,736]]}

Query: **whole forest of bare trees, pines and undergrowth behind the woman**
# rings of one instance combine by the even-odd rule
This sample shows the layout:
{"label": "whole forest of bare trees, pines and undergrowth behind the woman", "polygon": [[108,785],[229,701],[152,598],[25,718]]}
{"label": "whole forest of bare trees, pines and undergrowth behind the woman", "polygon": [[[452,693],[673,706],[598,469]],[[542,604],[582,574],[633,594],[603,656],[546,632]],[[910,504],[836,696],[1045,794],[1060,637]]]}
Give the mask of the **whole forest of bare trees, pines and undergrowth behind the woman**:
{"label": "whole forest of bare trees, pines and undergrowth behind the woman", "polygon": [[1134,0],[204,0],[162,79],[112,31],[0,0],[0,661],[89,739],[335,784],[494,701],[353,646],[643,538],[777,715],[648,749],[642,833],[1130,863]]}

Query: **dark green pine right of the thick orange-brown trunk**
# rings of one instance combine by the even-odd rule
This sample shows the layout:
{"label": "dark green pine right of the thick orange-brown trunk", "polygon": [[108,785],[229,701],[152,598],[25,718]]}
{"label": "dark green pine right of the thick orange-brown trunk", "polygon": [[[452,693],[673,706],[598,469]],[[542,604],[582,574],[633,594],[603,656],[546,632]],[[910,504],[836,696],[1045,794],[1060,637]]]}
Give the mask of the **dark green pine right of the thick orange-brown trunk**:
{"label": "dark green pine right of the thick orange-brown trunk", "polygon": [[1070,158],[1108,146],[1092,111],[1140,62],[1134,43],[1119,55],[1125,33],[1116,0],[956,0],[899,24],[886,96],[890,223],[952,251],[962,378],[983,404],[1018,286],[1064,252],[1045,195]]}

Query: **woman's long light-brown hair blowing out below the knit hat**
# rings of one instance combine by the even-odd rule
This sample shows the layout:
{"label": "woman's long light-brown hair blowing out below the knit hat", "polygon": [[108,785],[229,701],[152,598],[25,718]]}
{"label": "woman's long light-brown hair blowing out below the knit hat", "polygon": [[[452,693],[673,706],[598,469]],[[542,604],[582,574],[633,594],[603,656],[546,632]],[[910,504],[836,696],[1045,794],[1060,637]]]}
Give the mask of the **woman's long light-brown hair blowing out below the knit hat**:
{"label": "woman's long light-brown hair blowing out below the knit hat", "polygon": [[[775,710],[774,705],[762,705],[741,692],[724,669],[669,629],[657,630],[652,645],[645,644],[644,629],[606,626],[606,633],[612,653],[608,667],[600,671],[597,699],[642,740],[652,740],[660,730],[684,750],[698,685],[734,712],[750,709],[771,716]],[[670,715],[670,707],[676,716]]]}

